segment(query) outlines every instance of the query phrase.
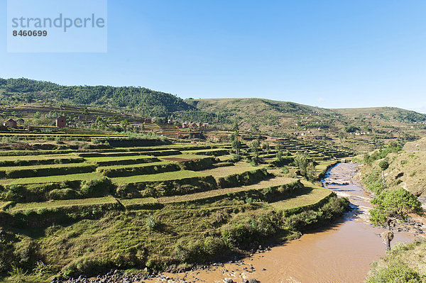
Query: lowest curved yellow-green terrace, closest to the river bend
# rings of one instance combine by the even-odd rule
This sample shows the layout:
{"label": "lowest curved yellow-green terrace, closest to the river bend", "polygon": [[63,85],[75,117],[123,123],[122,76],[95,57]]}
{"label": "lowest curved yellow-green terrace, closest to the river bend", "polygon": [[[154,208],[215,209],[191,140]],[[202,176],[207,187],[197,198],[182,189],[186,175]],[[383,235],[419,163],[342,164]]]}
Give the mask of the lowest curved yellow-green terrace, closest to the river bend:
{"label": "lowest curved yellow-green terrace, closest to the river bend", "polygon": [[302,206],[310,206],[312,204],[317,204],[322,199],[326,198],[332,191],[329,189],[325,189],[322,187],[317,187],[309,182],[302,182],[305,185],[306,194],[301,194],[299,196],[295,196],[291,199],[285,199],[283,201],[277,201],[271,203],[273,209],[282,211],[287,209],[295,209],[297,207]]}

